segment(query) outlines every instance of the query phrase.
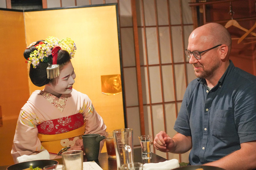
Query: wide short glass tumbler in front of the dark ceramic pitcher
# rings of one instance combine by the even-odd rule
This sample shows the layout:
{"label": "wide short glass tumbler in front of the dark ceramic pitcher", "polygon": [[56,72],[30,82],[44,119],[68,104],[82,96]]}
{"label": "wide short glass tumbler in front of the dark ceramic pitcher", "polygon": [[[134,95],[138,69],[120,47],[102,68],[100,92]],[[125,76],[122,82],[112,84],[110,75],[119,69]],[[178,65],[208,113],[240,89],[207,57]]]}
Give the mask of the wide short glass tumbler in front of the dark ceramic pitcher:
{"label": "wide short glass tumbler in front of the dark ceramic pitcher", "polygon": [[82,150],[70,150],[61,155],[65,170],[83,170],[84,152]]}

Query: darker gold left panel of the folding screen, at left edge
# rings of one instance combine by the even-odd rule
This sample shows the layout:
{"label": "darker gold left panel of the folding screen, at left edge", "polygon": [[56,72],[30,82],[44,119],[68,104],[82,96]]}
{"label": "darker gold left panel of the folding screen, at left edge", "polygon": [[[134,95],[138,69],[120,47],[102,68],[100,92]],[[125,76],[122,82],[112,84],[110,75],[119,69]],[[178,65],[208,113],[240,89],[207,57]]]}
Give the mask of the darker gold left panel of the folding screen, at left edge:
{"label": "darker gold left panel of the folding screen, at left edge", "polygon": [[21,107],[29,98],[28,72],[23,57],[25,30],[23,12],[0,10],[0,166],[13,164],[12,142]]}

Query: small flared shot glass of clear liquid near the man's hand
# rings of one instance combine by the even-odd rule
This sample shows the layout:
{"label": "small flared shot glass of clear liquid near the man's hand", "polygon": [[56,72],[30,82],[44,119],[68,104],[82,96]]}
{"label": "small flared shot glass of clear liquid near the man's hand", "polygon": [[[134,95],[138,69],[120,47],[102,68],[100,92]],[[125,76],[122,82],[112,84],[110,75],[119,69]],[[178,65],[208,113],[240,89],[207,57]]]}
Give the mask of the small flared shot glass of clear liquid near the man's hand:
{"label": "small flared shot glass of clear liquid near the man's hand", "polygon": [[138,136],[141,145],[141,156],[142,159],[151,159],[151,138],[152,135],[141,135]]}

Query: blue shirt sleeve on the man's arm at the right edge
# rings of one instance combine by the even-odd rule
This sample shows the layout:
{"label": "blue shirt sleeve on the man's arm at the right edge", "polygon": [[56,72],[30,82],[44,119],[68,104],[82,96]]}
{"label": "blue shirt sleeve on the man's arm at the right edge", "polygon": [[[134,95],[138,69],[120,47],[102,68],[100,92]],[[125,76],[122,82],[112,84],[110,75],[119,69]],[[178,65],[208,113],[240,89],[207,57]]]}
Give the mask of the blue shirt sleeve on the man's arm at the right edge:
{"label": "blue shirt sleeve on the man's arm at the right edge", "polygon": [[240,143],[256,140],[256,83],[237,94],[234,108]]}

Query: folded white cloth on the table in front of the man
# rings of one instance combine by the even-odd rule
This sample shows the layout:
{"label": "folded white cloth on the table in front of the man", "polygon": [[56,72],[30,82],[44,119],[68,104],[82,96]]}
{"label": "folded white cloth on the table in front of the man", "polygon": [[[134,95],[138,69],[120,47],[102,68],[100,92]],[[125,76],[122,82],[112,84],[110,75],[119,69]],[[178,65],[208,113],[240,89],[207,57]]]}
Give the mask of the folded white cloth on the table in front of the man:
{"label": "folded white cloth on the table in front of the man", "polygon": [[170,170],[178,168],[179,166],[178,159],[171,159],[159,163],[145,163],[143,165],[143,170]]}

